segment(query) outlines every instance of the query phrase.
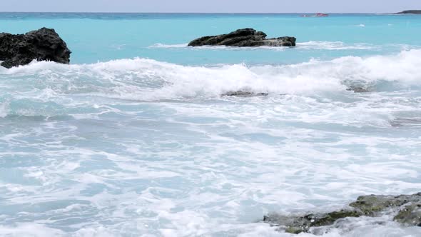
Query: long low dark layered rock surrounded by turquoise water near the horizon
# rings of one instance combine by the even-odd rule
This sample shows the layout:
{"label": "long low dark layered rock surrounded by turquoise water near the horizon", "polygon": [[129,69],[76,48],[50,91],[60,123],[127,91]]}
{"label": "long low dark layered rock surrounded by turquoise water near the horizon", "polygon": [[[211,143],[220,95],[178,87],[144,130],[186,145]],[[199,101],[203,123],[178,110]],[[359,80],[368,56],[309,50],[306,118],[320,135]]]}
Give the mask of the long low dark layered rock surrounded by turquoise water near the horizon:
{"label": "long low dark layered rock surrounded by turquoise water near the horizon", "polygon": [[257,47],[257,46],[295,46],[294,37],[279,37],[266,39],[266,34],[255,29],[239,29],[229,34],[218,36],[204,36],[191,41],[188,46],[237,46],[237,47]]}

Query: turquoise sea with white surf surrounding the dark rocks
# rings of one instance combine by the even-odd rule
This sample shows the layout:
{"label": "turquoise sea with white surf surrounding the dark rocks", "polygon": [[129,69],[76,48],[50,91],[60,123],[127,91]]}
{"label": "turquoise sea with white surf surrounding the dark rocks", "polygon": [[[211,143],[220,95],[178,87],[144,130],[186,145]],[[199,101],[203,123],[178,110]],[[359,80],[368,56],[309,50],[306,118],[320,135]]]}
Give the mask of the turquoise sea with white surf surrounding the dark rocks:
{"label": "turquoise sea with white surf surrounding the dark rocks", "polygon": [[[293,236],[263,216],[421,191],[421,16],[299,15],[1,13],[73,54],[0,68],[0,236]],[[186,46],[244,27],[298,45]]]}

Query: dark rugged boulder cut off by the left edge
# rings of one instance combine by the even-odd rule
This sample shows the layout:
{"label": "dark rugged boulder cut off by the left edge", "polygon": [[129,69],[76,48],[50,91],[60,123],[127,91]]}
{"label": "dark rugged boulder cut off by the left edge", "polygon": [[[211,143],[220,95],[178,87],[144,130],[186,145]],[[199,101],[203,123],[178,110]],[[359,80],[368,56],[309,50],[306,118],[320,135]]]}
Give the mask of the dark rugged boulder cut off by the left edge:
{"label": "dark rugged boulder cut off by the left edge", "polygon": [[69,64],[70,54],[66,42],[54,29],[42,28],[26,34],[0,34],[1,66],[8,69],[29,64],[34,59]]}

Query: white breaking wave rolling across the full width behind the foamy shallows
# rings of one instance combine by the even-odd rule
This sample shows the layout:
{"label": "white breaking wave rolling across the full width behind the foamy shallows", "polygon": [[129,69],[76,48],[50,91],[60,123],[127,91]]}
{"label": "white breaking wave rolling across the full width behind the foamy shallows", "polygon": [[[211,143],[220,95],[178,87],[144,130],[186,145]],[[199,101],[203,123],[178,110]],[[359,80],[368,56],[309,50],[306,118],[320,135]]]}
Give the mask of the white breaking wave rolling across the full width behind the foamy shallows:
{"label": "white breaking wave rolling across the full width behind the foamy shallows", "polygon": [[[91,94],[156,100],[213,97],[225,91],[238,90],[315,94],[345,90],[343,81],[397,81],[399,84],[420,85],[420,64],[421,50],[414,49],[391,56],[347,56],[332,61],[312,60],[280,66],[181,66],[151,59],[121,59],[83,65],[33,62],[27,66],[0,69],[0,74],[36,75],[42,81],[37,86],[45,90],[45,99],[56,94]],[[21,87],[20,84],[16,86]]]}

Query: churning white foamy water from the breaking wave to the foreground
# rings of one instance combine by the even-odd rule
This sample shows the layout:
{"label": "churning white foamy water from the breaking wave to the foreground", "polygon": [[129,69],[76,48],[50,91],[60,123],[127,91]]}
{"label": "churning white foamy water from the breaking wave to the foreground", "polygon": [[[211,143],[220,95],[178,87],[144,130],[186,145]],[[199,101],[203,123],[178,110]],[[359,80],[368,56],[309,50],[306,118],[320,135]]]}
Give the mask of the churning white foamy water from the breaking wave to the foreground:
{"label": "churning white foamy water from the breaking wave to the foreground", "polygon": [[[412,50],[293,65],[123,59],[0,69],[7,113],[77,114],[2,120],[0,157],[10,168],[0,175],[0,220],[9,221],[0,236],[291,236],[255,222],[420,190],[417,130],[389,123],[420,113],[419,94],[343,85],[420,85],[420,58]],[[235,89],[274,96],[219,96]],[[323,236],[417,231],[386,223],[357,218]]]}

